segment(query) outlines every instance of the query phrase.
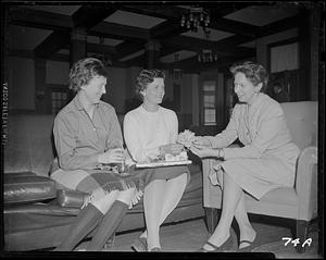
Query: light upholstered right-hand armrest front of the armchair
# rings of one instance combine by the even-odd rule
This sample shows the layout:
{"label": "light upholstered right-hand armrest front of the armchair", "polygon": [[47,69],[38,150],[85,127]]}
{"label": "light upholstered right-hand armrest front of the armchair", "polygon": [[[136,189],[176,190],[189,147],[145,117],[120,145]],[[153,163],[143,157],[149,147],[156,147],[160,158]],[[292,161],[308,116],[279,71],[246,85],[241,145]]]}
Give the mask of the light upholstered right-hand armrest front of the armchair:
{"label": "light upholstered right-hand armrest front of the armchair", "polygon": [[299,219],[310,221],[317,211],[317,147],[304,148],[298,158],[296,193]]}

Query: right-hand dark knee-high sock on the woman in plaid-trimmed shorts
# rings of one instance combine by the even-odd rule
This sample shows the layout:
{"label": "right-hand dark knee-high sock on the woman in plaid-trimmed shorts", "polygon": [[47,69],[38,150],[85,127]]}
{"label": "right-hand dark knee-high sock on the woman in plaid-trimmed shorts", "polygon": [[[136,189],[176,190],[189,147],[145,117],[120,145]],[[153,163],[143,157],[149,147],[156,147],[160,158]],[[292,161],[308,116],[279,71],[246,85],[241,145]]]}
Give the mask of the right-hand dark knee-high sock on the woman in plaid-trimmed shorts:
{"label": "right-hand dark knee-high sock on the woman in plaid-trimmed shorts", "polygon": [[128,205],[120,200],[115,200],[108,213],[103,216],[102,222],[99,224],[97,232],[87,246],[86,250],[100,251],[109,237],[116,230],[117,225],[121,223],[127,210]]}

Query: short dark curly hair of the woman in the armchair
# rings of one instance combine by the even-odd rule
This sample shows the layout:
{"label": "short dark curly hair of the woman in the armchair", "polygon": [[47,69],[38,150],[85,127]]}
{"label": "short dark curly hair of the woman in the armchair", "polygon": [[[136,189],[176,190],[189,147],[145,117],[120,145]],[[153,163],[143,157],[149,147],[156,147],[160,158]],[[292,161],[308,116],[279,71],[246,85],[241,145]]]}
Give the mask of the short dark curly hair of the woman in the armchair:
{"label": "short dark curly hair of the woman in the armchair", "polygon": [[231,74],[235,76],[238,72],[244,74],[244,76],[254,85],[263,84],[261,92],[265,92],[268,84],[268,73],[265,67],[259,63],[252,61],[244,61],[243,63],[238,63],[231,65],[229,69]]}

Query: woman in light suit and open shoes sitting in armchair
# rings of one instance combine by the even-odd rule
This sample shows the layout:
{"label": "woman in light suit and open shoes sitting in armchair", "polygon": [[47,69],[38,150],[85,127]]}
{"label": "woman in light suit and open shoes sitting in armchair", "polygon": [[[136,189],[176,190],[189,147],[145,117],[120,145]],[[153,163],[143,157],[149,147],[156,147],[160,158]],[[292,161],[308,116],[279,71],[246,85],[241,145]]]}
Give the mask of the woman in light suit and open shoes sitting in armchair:
{"label": "woman in light suit and open shoes sitting in armchair", "polygon": [[[210,175],[223,191],[218,224],[201,251],[230,249],[230,225],[240,231],[239,251],[249,251],[260,239],[249,222],[244,191],[261,199],[268,190],[292,187],[299,148],[293,144],[280,104],[265,95],[268,74],[263,65],[247,61],[230,67],[239,102],[227,127],[216,136],[196,137],[191,151],[218,160]],[[236,139],[242,147],[228,147]]]}

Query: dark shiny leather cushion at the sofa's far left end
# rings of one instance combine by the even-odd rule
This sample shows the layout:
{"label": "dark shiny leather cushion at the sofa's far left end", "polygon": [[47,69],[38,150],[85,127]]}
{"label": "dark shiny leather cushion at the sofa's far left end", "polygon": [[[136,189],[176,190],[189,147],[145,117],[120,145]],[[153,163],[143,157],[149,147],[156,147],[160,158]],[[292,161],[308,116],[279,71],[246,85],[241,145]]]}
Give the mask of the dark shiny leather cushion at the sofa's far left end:
{"label": "dark shiny leather cushion at the sofa's far left end", "polygon": [[57,197],[54,181],[30,172],[4,174],[3,181],[5,205],[32,203]]}

